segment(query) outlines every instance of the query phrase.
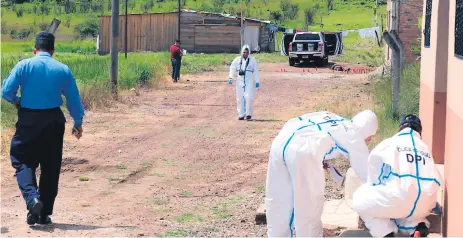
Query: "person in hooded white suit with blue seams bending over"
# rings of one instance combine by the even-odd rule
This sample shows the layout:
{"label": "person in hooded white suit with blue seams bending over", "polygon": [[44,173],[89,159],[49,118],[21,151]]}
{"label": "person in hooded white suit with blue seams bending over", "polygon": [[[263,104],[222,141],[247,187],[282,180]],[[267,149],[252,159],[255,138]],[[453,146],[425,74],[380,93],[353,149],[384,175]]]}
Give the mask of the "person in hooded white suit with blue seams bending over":
{"label": "person in hooded white suit with blue seams bending over", "polygon": [[265,208],[269,237],[323,236],[325,202],[323,162],[340,155],[366,181],[368,147],[378,128],[365,110],[348,120],[331,112],[313,112],[286,122],[272,143]]}

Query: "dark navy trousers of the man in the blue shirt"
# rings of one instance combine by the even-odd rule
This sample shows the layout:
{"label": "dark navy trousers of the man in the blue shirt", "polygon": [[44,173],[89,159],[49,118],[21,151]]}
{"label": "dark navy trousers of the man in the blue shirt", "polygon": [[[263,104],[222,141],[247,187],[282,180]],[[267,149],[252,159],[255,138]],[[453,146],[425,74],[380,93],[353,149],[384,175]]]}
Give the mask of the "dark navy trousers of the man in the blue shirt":
{"label": "dark navy trousers of the man in the blue shirt", "polygon": [[[18,110],[16,133],[11,140],[11,163],[27,208],[34,198],[39,198],[43,202],[43,216],[53,214],[58,194],[65,122],[60,108]],[[39,165],[37,187],[35,171]]]}

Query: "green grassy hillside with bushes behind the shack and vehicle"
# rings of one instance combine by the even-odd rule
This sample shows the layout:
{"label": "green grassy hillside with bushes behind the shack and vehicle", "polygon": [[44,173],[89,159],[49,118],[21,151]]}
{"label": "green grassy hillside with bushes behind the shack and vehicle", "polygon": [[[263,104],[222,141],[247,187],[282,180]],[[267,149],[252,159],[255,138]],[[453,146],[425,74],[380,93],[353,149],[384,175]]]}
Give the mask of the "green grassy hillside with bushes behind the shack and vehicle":
{"label": "green grassy hillside with bushes behind the shack and vehicle", "polygon": [[[374,26],[374,13],[385,14],[385,0],[243,0],[246,17],[272,20],[289,28],[309,30],[350,30]],[[93,38],[98,34],[98,16],[111,14],[110,0],[45,0],[2,1],[2,41],[31,40],[46,29],[56,17],[62,21],[57,39]],[[181,0],[185,9],[240,14],[239,0]],[[129,0],[128,12],[169,12],[177,9],[176,0]],[[125,1],[120,1],[120,13],[125,13]]]}

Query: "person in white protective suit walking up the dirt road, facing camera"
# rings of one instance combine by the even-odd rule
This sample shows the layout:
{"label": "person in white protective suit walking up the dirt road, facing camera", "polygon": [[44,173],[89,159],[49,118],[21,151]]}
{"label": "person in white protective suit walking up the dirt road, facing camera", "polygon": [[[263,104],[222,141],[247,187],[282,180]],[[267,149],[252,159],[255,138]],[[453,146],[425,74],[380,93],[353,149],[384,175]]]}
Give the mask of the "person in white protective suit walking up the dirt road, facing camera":
{"label": "person in white protective suit walking up the dirt road, facing camera", "polygon": [[228,83],[233,84],[233,74],[236,73],[236,101],[238,119],[251,120],[254,109],[254,90],[260,87],[260,74],[257,61],[251,56],[248,45],[241,49],[242,56],[236,57],[230,65]]}

